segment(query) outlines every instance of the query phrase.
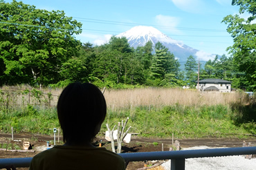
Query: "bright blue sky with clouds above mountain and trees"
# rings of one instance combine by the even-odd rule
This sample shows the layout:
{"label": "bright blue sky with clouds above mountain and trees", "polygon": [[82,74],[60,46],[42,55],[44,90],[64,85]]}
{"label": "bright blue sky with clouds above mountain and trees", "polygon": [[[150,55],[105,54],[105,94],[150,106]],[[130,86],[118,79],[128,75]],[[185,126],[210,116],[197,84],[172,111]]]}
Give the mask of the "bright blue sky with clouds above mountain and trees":
{"label": "bright blue sky with clouds above mountain and trees", "polygon": [[[11,2],[5,0],[6,2]],[[17,0],[18,1],[18,0]],[[103,44],[134,26],[153,26],[183,44],[200,50],[199,59],[228,55],[232,38],[223,17],[238,13],[232,0],[24,0],[45,10],[64,10],[82,23],[82,42]]]}

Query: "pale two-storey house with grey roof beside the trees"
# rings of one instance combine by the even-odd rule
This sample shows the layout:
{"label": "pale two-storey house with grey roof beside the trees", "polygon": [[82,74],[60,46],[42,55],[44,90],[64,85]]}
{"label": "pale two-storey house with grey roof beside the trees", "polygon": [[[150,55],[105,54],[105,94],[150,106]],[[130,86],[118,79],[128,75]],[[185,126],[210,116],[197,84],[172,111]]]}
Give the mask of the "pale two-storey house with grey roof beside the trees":
{"label": "pale two-storey house with grey roof beside the trees", "polygon": [[[198,88],[197,85],[196,88]],[[223,79],[202,79],[199,81],[199,90],[202,92],[231,93],[231,82]]]}

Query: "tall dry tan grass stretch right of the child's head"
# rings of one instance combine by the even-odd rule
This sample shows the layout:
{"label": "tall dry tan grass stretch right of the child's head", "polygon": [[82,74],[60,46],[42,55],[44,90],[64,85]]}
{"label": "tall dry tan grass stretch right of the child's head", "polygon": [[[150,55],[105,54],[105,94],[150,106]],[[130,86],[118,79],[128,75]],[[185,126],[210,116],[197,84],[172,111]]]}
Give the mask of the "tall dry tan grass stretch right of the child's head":
{"label": "tall dry tan grass stretch right of the child's head", "polygon": [[246,104],[245,93],[200,93],[181,88],[136,88],[126,90],[107,90],[104,92],[109,108],[131,108],[136,106],[202,106],[217,104]]}

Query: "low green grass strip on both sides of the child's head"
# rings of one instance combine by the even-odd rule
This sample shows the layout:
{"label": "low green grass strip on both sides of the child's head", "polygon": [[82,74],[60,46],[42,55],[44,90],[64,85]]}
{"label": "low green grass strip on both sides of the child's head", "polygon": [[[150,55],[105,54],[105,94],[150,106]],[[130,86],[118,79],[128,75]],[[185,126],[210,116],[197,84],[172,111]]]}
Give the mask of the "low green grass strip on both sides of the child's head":
{"label": "low green grass strip on both sides of the child's head", "polygon": [[[246,138],[256,134],[255,105],[212,106],[162,106],[159,108],[137,106],[119,111],[109,110],[102,124],[101,134],[126,117],[130,117],[130,132],[143,137],[171,138]],[[253,113],[252,113],[253,112]],[[36,108],[28,105],[15,111],[0,111],[0,131],[10,133],[40,133],[52,135],[51,129],[59,128],[55,108]],[[2,144],[3,146],[3,144]],[[7,147],[7,146],[5,146]]]}

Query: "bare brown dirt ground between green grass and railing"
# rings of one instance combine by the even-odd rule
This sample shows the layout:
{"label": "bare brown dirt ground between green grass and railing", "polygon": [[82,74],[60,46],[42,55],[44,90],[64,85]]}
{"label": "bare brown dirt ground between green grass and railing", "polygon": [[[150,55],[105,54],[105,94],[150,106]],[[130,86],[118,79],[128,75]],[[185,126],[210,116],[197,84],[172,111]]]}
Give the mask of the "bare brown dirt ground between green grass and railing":
{"label": "bare brown dirt ground between green grass and railing", "polygon": [[[29,158],[33,157],[37,153],[42,151],[42,148],[46,147],[47,142],[53,145],[54,137],[49,135],[32,135],[32,134],[16,134],[14,135],[14,140],[12,141],[10,134],[0,134],[0,144],[12,144],[12,146],[19,146],[23,149],[23,142],[28,141],[31,144],[32,150],[35,152],[18,152],[18,151],[1,151],[0,158]],[[110,142],[104,140],[104,137],[98,138],[95,141],[95,146],[99,146],[99,141],[102,140],[102,147],[106,147],[111,150]],[[177,139],[174,139],[174,141]],[[179,139],[178,139],[179,140]],[[63,144],[62,138],[60,138],[60,143],[56,137],[56,144]],[[220,138],[206,138],[206,139],[185,139],[179,140],[182,148],[188,147],[242,147],[243,139],[220,139]],[[246,140],[246,143],[251,142],[252,146],[256,146],[256,137]],[[162,147],[163,145],[163,147]],[[149,152],[149,151],[170,151],[172,147],[172,138],[161,139],[161,138],[138,138],[136,136],[131,138],[129,144],[122,143],[122,153],[134,153],[134,152]],[[161,164],[163,161],[158,162],[129,162],[127,170],[141,169],[145,164],[149,167],[152,165]],[[19,168],[28,169],[28,168]]]}

